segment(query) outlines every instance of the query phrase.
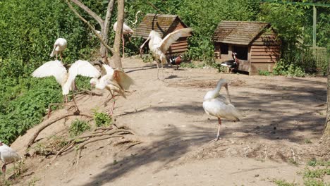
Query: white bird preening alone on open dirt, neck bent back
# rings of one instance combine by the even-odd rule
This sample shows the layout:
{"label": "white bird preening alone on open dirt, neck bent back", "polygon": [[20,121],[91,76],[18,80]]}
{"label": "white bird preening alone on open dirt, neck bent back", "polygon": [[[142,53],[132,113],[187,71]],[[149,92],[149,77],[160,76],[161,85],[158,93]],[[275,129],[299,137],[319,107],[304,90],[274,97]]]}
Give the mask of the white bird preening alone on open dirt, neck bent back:
{"label": "white bird preening alone on open dirt, neck bent back", "polygon": [[[228,99],[226,97],[220,95],[221,86],[224,85],[227,91]],[[215,116],[218,118],[219,128],[216,134],[216,140],[220,138],[220,126],[221,126],[221,118],[226,118],[228,120],[238,121],[241,116],[238,110],[231,104],[231,96],[228,92],[228,83],[226,80],[219,80],[216,85],[216,89],[207,92],[204,96],[203,101],[204,111],[209,116]]]}

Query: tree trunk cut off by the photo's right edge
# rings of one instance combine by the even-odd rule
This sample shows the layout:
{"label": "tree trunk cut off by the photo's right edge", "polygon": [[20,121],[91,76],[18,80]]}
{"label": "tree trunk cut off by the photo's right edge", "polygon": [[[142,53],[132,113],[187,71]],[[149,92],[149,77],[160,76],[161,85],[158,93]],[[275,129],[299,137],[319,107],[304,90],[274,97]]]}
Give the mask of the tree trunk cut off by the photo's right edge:
{"label": "tree trunk cut off by the photo's right edge", "polygon": [[326,93],[326,123],[322,136],[321,156],[323,159],[330,159],[330,66],[328,68],[328,87]]}

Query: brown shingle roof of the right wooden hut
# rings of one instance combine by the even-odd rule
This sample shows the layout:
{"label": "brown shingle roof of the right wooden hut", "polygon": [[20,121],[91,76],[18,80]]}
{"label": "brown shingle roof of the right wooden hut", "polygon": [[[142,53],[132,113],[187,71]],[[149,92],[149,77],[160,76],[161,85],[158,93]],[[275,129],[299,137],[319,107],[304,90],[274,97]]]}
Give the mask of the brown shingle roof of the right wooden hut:
{"label": "brown shingle roof of the right wooden hut", "polygon": [[248,45],[269,26],[264,22],[221,21],[212,39],[214,42]]}

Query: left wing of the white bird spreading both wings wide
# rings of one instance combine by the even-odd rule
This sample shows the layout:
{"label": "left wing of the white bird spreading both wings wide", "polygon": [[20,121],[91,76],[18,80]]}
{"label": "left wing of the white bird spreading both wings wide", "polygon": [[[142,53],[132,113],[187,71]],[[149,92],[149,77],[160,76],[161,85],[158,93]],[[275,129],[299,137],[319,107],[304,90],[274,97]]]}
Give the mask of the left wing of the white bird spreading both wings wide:
{"label": "left wing of the white bird spreading both wings wide", "polygon": [[61,61],[48,61],[42,66],[39,66],[33,73],[32,77],[49,77],[54,76],[56,82],[63,85],[66,78],[66,68],[62,65]]}

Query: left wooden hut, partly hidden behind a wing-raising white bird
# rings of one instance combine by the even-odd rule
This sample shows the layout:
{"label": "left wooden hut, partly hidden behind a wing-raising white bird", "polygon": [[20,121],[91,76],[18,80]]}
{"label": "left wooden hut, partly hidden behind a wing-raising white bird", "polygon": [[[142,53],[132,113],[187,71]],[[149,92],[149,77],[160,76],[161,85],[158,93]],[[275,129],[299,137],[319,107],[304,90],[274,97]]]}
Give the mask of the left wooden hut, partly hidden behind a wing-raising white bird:
{"label": "left wooden hut, partly hidden behind a wing-raising white bird", "polygon": [[[140,25],[135,29],[133,37],[142,37],[143,39],[147,39],[150,31],[154,30],[161,35],[161,38],[164,38],[169,33],[185,27],[187,27],[187,25],[185,25],[185,23],[183,23],[182,20],[176,15],[147,13]],[[183,54],[185,51],[187,51],[187,37],[189,36],[190,35],[180,37],[178,40],[176,40],[176,42],[171,44],[166,55],[173,56],[177,54]]]}

